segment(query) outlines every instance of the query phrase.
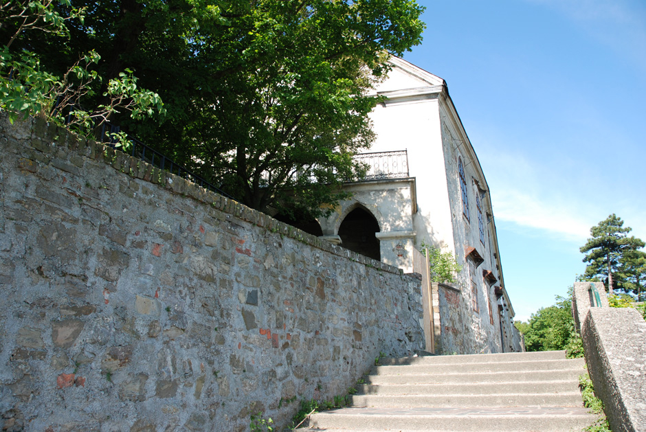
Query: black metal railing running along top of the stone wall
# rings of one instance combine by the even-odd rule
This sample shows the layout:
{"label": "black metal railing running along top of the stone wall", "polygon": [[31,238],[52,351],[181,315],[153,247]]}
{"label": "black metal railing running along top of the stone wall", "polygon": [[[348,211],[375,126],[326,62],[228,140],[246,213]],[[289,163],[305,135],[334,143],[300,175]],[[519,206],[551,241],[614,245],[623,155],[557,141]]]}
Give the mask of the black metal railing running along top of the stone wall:
{"label": "black metal railing running along top of the stone wall", "polygon": [[179,163],[175,163],[175,161],[172,161],[172,159],[169,159],[154,148],[146,146],[146,144],[142,143],[142,141],[131,137],[131,135],[127,133],[125,135],[131,146],[128,149],[124,149],[123,146],[119,145],[120,143],[116,136],[116,134],[119,134],[120,132],[120,126],[116,126],[109,122],[104,122],[104,124],[102,124],[101,126],[101,135],[99,139],[103,144],[107,144],[115,150],[121,150],[124,153],[128,153],[132,157],[136,157],[137,159],[141,159],[144,162],[150,163],[152,166],[156,166],[160,170],[168,171],[171,174],[175,174],[178,177],[200,185],[207,190],[216,192],[218,194],[226,196],[227,198],[234,199],[226,192],[220,190],[216,185],[213,185],[212,183],[203,179],[203,177],[200,177],[194,172],[188,170],[188,168],[186,168],[185,166],[179,165]]}

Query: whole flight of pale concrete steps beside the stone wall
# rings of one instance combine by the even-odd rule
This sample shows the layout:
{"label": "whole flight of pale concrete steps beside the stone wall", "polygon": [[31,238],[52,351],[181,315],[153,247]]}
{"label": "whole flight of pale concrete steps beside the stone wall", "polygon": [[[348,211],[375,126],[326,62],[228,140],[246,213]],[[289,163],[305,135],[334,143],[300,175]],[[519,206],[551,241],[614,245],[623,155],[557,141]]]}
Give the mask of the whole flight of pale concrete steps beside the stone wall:
{"label": "whole flight of pale concrete steps beside the stone wall", "polygon": [[581,431],[583,359],[564,351],[382,359],[348,408],[299,431]]}

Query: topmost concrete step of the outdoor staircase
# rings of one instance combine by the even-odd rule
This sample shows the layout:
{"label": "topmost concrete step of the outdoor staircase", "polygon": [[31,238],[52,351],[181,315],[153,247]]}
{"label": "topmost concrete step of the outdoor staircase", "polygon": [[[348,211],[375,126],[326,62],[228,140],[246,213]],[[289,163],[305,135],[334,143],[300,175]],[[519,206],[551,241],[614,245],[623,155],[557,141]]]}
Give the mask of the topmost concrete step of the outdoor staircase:
{"label": "topmost concrete step of the outdoor staircase", "polygon": [[381,359],[379,365],[454,365],[459,363],[498,363],[500,361],[566,360],[565,351],[505,352],[498,354],[461,354],[455,356],[416,356]]}

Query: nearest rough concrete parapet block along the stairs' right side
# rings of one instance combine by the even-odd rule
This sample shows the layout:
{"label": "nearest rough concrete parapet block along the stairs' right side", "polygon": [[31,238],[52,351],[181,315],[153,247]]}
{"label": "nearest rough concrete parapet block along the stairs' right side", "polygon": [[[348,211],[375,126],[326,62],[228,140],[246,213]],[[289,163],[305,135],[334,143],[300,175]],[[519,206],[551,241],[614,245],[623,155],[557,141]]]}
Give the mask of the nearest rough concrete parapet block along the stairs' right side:
{"label": "nearest rough concrete parapet block along the stairs' right side", "polygon": [[613,431],[646,425],[646,322],[633,308],[590,308],[581,328],[594,393]]}

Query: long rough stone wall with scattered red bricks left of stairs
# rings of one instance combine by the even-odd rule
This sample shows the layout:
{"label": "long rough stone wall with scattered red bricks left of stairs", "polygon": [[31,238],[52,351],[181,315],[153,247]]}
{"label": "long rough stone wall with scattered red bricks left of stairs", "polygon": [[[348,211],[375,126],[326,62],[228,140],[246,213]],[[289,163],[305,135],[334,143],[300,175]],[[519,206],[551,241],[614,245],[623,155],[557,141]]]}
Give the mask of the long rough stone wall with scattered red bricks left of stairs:
{"label": "long rough stone wall with scattered red bricks left of stairs", "polygon": [[245,431],[423,348],[419,279],[0,117],[0,424]]}

